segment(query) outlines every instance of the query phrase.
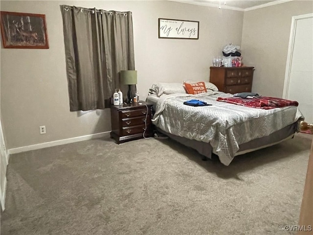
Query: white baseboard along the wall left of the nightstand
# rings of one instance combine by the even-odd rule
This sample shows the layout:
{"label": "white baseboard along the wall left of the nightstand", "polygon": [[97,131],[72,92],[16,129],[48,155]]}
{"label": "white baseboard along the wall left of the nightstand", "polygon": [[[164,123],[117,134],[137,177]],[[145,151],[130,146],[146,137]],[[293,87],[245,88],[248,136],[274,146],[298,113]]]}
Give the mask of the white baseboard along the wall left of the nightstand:
{"label": "white baseboard along the wall left of the nightstand", "polygon": [[53,147],[57,145],[67,144],[67,143],[74,143],[74,142],[79,142],[79,141],[87,141],[91,139],[101,138],[101,137],[109,135],[110,132],[111,131],[106,131],[106,132],[101,132],[97,134],[79,136],[79,137],[74,137],[74,138],[69,138],[69,139],[64,139],[64,140],[59,140],[59,141],[51,141],[51,142],[38,143],[34,145],[18,147],[18,148],[11,148],[11,149],[8,149],[8,154],[21,153],[21,152],[26,152],[26,151],[35,150],[35,149],[41,149],[41,148]]}

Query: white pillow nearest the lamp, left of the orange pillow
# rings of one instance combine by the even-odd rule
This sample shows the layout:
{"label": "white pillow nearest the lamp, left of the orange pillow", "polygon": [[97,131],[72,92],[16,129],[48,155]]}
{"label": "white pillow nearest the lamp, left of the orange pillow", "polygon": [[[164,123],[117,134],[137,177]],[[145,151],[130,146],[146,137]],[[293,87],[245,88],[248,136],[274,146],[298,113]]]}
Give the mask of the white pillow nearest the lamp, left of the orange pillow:
{"label": "white pillow nearest the lamp, left of the orange pillow", "polygon": [[160,96],[161,94],[176,94],[186,93],[181,83],[174,82],[159,82],[152,85],[149,90],[150,93]]}

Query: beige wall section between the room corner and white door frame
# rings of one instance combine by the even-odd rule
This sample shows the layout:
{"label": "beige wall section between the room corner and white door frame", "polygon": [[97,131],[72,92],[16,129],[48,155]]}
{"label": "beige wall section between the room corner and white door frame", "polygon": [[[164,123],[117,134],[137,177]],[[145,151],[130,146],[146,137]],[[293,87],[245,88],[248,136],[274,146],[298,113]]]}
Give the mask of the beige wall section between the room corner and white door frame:
{"label": "beige wall section between the room corner and white door frame", "polygon": [[242,53],[255,67],[252,92],[282,97],[291,29],[291,17],[313,12],[313,1],[290,1],[247,11]]}

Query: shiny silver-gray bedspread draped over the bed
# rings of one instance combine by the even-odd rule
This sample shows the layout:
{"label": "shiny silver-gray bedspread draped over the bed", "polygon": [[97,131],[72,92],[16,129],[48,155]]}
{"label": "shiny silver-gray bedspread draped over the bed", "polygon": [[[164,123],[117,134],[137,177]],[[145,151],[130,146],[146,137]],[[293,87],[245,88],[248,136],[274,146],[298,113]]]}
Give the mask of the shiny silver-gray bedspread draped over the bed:
{"label": "shiny silver-gray bedspread draped over the bed", "polygon": [[[240,144],[268,136],[303,119],[296,106],[264,110],[216,101],[217,97],[231,96],[211,90],[204,94],[163,94],[156,104],[152,122],[167,133],[209,142],[220,161],[229,165]],[[183,104],[190,99],[212,105]]]}

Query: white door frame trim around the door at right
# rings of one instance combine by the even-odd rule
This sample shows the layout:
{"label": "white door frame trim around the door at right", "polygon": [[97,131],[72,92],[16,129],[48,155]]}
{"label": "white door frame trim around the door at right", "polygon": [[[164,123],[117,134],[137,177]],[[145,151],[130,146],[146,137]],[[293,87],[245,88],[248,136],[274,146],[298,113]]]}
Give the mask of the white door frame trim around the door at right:
{"label": "white door frame trim around the door at right", "polygon": [[297,29],[297,22],[299,20],[308,19],[308,18],[313,18],[313,13],[293,16],[291,18],[291,30],[290,30],[290,37],[289,37],[289,46],[288,46],[288,54],[287,54],[287,62],[286,62],[284,90],[283,90],[284,99],[287,99],[287,96],[288,96],[291,63],[292,63],[292,55],[293,55],[293,48],[294,48],[294,38],[295,38],[295,31]]}

